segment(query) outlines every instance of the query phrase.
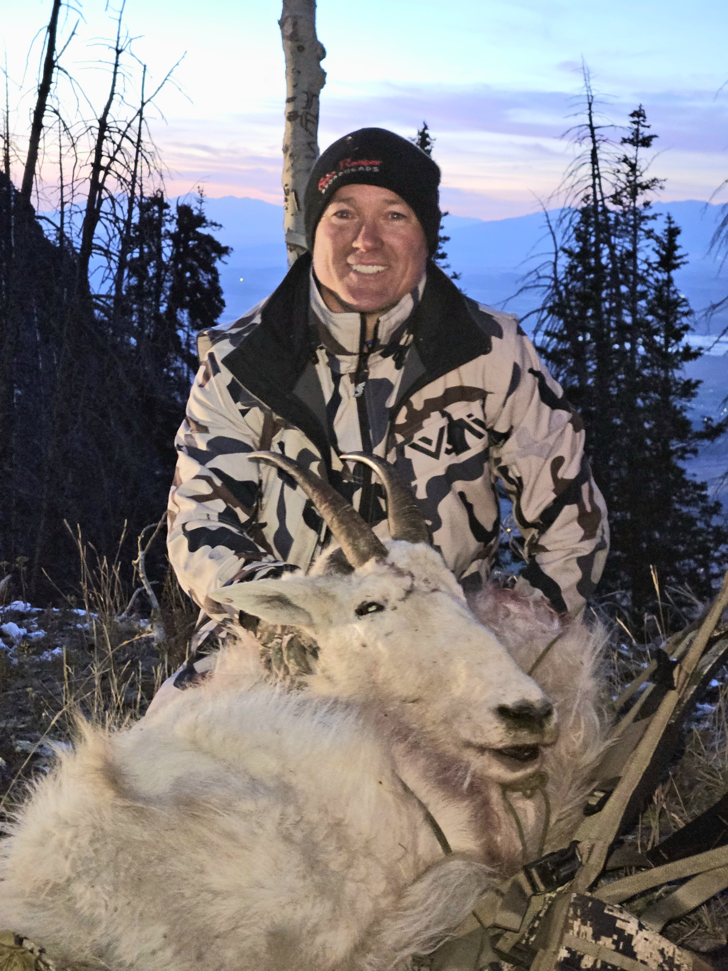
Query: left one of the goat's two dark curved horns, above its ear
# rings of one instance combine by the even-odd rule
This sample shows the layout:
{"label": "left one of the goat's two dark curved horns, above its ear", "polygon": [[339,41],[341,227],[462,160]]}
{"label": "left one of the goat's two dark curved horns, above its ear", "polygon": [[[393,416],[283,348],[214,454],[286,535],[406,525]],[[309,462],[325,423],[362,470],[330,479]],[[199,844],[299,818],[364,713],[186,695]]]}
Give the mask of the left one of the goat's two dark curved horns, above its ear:
{"label": "left one of the goat's two dark curved horns, above its ear", "polygon": [[370,559],[383,559],[386,547],[372,532],[353,506],[323,479],[302,469],[290,458],[279,452],[248,452],[247,458],[258,458],[262,462],[276,465],[287,472],[296,485],[300,485],[323,521],[334,534],[334,539],[344,551],[347,560],[354,568],[363,566]]}

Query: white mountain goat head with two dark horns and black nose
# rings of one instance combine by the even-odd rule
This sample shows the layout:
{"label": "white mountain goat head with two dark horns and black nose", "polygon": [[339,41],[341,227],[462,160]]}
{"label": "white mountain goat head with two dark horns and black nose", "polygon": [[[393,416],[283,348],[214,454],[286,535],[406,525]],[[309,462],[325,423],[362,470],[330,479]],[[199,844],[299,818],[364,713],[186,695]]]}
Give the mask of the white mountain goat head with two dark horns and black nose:
{"label": "white mountain goat head with two dark horns and black nose", "polygon": [[472,614],[430,545],[409,486],[381,458],[342,456],[381,478],[391,536],[382,542],[313,473],[277,452],[248,457],[278,466],[303,488],[352,569],[226,586],[213,597],[310,632],[318,652],[307,683],[316,693],[371,703],[403,737],[429,738],[488,779],[533,774],[557,735],[552,705]]}

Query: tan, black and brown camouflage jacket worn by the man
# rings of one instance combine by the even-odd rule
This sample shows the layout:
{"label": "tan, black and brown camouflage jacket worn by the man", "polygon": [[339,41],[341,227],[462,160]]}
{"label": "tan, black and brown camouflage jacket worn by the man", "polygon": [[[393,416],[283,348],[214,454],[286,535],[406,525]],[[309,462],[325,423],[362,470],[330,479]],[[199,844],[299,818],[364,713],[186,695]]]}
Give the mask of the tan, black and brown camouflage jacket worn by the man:
{"label": "tan, black and brown camouflage jacket worn by the man", "polygon": [[500,538],[495,485],[525,540],[521,585],[576,610],[608,550],[604,501],[579,416],[517,322],[463,297],[434,264],[364,341],[331,314],[300,257],[244,318],[201,335],[202,364],[177,436],[168,547],[182,587],[208,594],[280,562],[307,569],[329,540],[290,477],[248,460],[278,450],[327,478],[386,535],[381,487],[342,452],[380,454],[410,482],[463,586],[486,577]]}

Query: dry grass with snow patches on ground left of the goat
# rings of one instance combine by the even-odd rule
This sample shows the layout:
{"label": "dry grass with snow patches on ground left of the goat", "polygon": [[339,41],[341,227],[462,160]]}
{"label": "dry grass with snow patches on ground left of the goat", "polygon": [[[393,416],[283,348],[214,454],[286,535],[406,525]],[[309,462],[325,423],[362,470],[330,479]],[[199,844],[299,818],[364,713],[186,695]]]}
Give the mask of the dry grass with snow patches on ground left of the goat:
{"label": "dry grass with snow patches on ground left of the goat", "polygon": [[[84,544],[80,532],[74,539],[77,594],[57,609],[2,615],[4,623],[37,629],[0,650],[0,822],[23,783],[48,771],[53,745],[73,740],[79,715],[115,727],[144,715],[156,689],[184,661],[197,619],[170,570],[158,599],[159,623],[151,623],[143,590],[131,594],[121,579],[123,536],[111,559]],[[36,636],[40,631],[45,636]]]}

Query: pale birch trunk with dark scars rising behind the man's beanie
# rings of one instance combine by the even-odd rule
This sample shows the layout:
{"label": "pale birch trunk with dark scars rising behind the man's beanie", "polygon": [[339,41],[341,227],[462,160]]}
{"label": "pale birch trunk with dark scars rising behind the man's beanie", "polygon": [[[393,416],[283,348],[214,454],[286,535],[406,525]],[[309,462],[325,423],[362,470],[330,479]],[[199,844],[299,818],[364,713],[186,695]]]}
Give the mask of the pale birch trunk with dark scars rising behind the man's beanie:
{"label": "pale birch trunk with dark scars rising behind the man's beanie", "polygon": [[318,95],[326,83],[326,56],[316,37],[315,0],[283,0],[279,26],[285,54],[283,230],[288,266],[306,252],[304,191],[318,158]]}

